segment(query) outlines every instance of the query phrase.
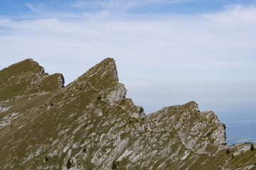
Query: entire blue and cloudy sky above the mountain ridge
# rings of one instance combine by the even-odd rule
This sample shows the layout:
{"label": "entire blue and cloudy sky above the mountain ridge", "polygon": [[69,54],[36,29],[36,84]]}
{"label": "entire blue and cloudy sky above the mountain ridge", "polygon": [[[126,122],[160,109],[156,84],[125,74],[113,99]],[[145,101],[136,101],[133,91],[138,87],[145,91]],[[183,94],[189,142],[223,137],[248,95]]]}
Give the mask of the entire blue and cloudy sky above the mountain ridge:
{"label": "entire blue and cloudy sky above the mountain ridge", "polygon": [[0,69],[32,58],[67,85],[106,57],[146,114],[196,101],[256,142],[256,1],[0,0]]}

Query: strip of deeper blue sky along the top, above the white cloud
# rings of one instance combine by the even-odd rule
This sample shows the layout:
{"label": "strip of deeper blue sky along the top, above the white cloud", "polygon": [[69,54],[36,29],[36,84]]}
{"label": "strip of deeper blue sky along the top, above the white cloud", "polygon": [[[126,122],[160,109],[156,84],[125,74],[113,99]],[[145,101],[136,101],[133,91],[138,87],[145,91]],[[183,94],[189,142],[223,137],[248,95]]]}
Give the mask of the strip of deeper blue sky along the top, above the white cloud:
{"label": "strip of deeper blue sky along the top, above the white cloud", "polygon": [[[35,13],[77,13],[84,11],[111,11],[114,13],[125,12],[129,14],[196,14],[223,11],[226,6],[255,5],[252,0],[112,0],[112,1],[55,1],[55,0],[9,0],[0,1],[2,16],[33,16]],[[54,16],[54,15],[53,15]],[[50,16],[49,16],[50,17]]]}

